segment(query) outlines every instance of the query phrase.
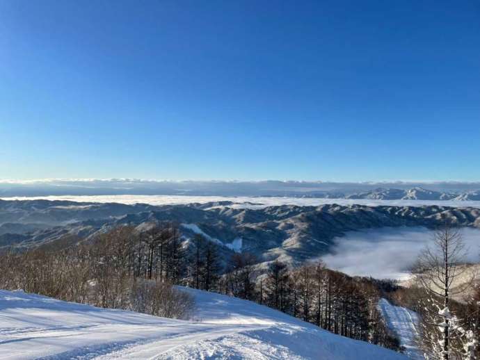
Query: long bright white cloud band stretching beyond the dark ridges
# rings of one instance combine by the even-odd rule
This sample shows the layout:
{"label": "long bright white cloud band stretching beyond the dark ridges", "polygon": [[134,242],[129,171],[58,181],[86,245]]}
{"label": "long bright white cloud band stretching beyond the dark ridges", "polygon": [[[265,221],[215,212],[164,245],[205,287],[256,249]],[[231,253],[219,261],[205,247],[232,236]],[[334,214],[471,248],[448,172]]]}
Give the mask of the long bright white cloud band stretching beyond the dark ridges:
{"label": "long bright white cloud band stretching beyond the dark ridges", "polygon": [[367,205],[367,206],[424,206],[440,205],[454,207],[480,208],[480,201],[461,200],[376,200],[376,199],[320,199],[303,197],[225,197],[225,196],[189,196],[189,195],[82,195],[82,196],[44,196],[44,197],[2,197],[3,200],[67,200],[71,202],[117,202],[120,204],[173,205],[207,202],[235,202],[230,207],[262,208],[276,205],[319,206],[323,204]]}

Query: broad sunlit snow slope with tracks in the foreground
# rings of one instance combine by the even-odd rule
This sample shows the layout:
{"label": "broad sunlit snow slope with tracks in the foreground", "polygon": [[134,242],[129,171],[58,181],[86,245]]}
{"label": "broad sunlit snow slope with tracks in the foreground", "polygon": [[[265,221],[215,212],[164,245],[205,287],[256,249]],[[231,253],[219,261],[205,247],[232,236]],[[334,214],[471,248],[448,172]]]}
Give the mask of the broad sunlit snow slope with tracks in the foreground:
{"label": "broad sunlit snow slope with tracks in the foreground", "polygon": [[193,320],[0,291],[0,359],[405,359],[253,302],[184,289]]}

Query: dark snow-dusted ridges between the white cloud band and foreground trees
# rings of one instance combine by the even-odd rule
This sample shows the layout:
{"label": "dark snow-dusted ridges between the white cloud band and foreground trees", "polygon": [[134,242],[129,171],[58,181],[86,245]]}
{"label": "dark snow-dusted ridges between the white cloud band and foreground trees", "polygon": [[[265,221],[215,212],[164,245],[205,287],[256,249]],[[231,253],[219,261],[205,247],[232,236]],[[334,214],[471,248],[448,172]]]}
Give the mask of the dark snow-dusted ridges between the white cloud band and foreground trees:
{"label": "dark snow-dusted ridges between the white cloud band and foreground trees", "polygon": [[[362,196],[388,194],[378,190]],[[406,194],[429,196],[419,190],[408,190]],[[232,205],[232,202],[152,206],[0,200],[0,247],[26,248],[59,239],[75,243],[119,225],[141,229],[147,222],[171,221],[179,224],[186,241],[194,234],[203,234],[218,244],[224,259],[234,252],[252,252],[261,261],[280,258],[301,262],[328,252],[333,239],[346,231],[401,226],[435,228],[446,220],[480,228],[480,209],[471,207],[330,204],[233,208]]]}

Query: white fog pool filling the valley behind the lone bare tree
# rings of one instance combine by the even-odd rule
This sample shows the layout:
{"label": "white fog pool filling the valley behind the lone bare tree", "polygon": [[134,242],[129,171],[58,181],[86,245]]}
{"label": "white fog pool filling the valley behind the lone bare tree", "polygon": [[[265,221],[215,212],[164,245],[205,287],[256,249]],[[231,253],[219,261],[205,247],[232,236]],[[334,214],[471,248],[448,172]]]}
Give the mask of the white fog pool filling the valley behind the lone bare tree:
{"label": "white fog pool filling the valley behind the lone bare tree", "polygon": [[[478,262],[480,230],[465,228],[462,234],[469,249],[467,261]],[[335,247],[322,260],[328,268],[349,275],[402,279],[432,238],[433,231],[424,227],[351,231],[335,238]]]}

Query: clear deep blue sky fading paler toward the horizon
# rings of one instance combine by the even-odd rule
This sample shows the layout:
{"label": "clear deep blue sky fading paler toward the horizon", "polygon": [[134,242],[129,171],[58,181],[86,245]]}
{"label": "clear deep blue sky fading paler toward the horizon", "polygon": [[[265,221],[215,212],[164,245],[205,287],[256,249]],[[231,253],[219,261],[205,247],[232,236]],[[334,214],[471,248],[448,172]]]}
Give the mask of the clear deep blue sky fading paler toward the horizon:
{"label": "clear deep blue sky fading paler toward the horizon", "polygon": [[0,1],[0,179],[480,180],[479,1]]}

